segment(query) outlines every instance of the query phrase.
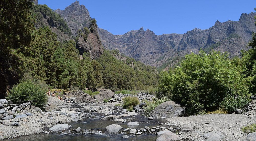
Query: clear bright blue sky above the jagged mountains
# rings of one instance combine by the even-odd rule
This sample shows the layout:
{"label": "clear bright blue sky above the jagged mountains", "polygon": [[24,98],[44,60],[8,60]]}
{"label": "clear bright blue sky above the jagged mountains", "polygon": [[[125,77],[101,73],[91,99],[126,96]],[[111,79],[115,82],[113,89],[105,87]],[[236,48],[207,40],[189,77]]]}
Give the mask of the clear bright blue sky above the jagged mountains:
{"label": "clear bright blue sky above the jagged mountains", "polygon": [[[75,0],[38,0],[51,9],[65,9]],[[255,0],[80,0],[100,28],[124,34],[144,27],[155,34],[186,33],[207,29],[216,20],[238,21],[242,13],[254,12]]]}

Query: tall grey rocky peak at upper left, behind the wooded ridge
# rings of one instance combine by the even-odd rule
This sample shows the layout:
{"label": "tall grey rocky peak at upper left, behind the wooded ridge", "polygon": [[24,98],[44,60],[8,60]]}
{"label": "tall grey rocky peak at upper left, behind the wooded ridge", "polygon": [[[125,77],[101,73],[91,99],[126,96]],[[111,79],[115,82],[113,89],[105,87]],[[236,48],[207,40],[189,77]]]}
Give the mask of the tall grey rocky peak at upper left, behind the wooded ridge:
{"label": "tall grey rocky peak at upper left, behind the wooded ridge", "polygon": [[65,10],[57,9],[55,12],[68,23],[73,36],[76,35],[78,29],[89,27],[92,20],[88,9],[84,5],[80,5],[78,1],[66,7]]}

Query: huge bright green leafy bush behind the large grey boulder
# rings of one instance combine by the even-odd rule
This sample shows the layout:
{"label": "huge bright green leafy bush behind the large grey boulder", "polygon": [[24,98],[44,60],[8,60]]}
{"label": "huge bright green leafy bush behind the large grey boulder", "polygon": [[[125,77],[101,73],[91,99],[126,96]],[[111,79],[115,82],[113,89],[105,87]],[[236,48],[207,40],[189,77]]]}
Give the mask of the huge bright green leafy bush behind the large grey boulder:
{"label": "huge bright green leafy bush behind the large grey boulder", "polygon": [[191,53],[180,66],[162,72],[156,96],[185,106],[189,115],[219,108],[233,112],[250,101],[250,83],[241,72],[225,53]]}

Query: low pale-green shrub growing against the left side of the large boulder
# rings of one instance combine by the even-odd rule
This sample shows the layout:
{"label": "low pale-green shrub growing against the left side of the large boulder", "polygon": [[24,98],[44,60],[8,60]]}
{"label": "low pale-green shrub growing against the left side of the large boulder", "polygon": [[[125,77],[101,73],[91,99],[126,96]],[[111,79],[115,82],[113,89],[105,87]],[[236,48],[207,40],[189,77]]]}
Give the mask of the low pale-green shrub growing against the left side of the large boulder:
{"label": "low pale-green shrub growing against the left side of the large boulder", "polygon": [[149,116],[151,111],[153,111],[157,106],[159,106],[160,104],[169,101],[169,99],[167,97],[163,97],[160,99],[154,99],[153,101],[147,102],[147,107],[144,108],[145,111],[145,115]]}

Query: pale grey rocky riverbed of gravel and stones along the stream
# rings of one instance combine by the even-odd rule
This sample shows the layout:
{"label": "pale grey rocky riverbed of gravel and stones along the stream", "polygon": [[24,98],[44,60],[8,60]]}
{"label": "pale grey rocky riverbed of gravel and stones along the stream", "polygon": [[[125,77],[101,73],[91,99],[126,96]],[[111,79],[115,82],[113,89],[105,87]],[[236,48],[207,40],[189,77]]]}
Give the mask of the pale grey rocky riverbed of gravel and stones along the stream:
{"label": "pale grey rocky riverbed of gravel and stones along the stream", "polygon": [[[0,139],[39,133],[64,133],[120,134],[120,138],[157,134],[158,141],[170,137],[176,140],[198,141],[246,140],[247,135],[241,132],[241,127],[255,123],[256,119],[256,100],[251,101],[240,114],[205,114],[189,117],[179,117],[184,108],[173,102],[165,102],[152,111],[152,117],[147,117],[143,112],[144,102],[151,101],[153,95],[138,93],[136,97],[140,104],[135,106],[132,112],[121,107],[122,98],[131,95],[103,93],[99,96],[92,98],[82,91],[76,91],[68,93],[65,102],[49,97],[47,111],[44,112],[36,107],[23,110],[21,113],[0,110]],[[98,100],[105,98],[108,99],[108,103],[98,103]],[[6,104],[8,103],[0,104],[0,107],[4,109]],[[91,129],[65,124],[82,120],[90,122],[88,118],[108,120],[109,126]]]}

